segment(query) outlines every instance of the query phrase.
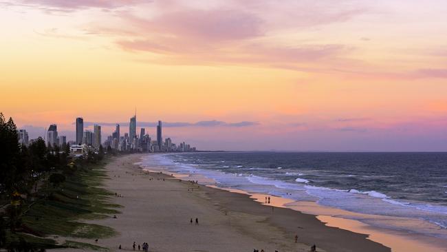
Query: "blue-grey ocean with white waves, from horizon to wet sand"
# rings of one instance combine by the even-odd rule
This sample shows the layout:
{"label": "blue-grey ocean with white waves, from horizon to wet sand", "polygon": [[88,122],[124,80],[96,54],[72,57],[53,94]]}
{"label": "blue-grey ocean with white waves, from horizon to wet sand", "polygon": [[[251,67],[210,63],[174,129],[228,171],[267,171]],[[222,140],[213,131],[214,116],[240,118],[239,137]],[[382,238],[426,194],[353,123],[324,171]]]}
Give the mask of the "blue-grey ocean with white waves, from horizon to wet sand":
{"label": "blue-grey ocean with white waves, from horizon to wet sand", "polygon": [[340,217],[447,240],[447,153],[198,152],[149,155],[142,165],[217,187],[363,213],[368,218]]}

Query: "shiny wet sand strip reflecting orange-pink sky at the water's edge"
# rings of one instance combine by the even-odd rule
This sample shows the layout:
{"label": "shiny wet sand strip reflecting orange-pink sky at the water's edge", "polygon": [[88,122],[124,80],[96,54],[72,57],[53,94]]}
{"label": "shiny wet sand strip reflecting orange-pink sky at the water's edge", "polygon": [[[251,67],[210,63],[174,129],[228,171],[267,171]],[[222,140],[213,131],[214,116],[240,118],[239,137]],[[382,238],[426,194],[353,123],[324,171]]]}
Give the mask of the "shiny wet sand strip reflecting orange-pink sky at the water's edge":
{"label": "shiny wet sand strip reflecting orange-pink sky at the water's edge", "polygon": [[[154,171],[156,172],[156,171]],[[162,171],[163,172],[163,171]],[[173,174],[171,171],[167,171],[169,174]],[[173,174],[175,178],[188,178],[187,174]],[[197,176],[196,174],[194,176]],[[201,176],[201,175],[198,175]],[[208,179],[204,177],[205,179]],[[259,204],[265,205],[263,199],[265,195],[262,193],[251,193],[248,191],[242,191],[239,189],[231,189],[224,187],[217,187],[215,185],[206,185],[207,187],[213,189],[220,189],[224,191],[230,191],[231,193],[241,193],[250,196],[250,199],[258,202]],[[355,213],[351,211],[346,211],[342,209],[336,209],[334,207],[326,207],[322,206],[316,202],[307,202],[307,201],[296,201],[288,198],[281,198],[278,196],[271,196],[274,198],[274,202],[279,202],[279,204],[267,204],[274,207],[283,207],[287,209],[292,209],[294,211],[298,211],[300,213],[309,214],[312,216],[316,216],[320,222],[325,223],[327,227],[336,227],[339,229],[344,229],[347,231],[352,231],[354,233],[360,233],[368,235],[367,239],[373,242],[378,242],[383,244],[384,246],[388,246],[392,249],[392,251],[404,251],[404,252],[412,252],[412,251],[447,251],[447,241],[441,238],[433,237],[430,235],[424,235],[421,233],[409,233],[408,231],[395,230],[395,229],[386,229],[383,227],[375,227],[371,224],[367,224],[362,222],[361,220],[355,220],[353,218],[346,218],[341,216],[356,216],[360,219],[367,219],[368,216],[374,216],[364,213]],[[378,217],[378,216],[375,216]],[[416,220],[412,218],[393,218],[391,216],[379,216],[383,218],[386,222],[387,220],[391,221],[410,221],[410,222],[420,222],[417,224],[426,224],[423,220]],[[431,224],[431,223],[430,223]]]}

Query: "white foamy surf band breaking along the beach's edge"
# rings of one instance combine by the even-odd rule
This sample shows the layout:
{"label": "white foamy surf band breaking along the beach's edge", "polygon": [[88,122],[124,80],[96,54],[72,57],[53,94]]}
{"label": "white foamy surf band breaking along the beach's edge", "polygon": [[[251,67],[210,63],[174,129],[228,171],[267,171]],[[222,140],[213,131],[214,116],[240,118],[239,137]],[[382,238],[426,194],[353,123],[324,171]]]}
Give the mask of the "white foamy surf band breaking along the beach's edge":
{"label": "white foamy surf band breaking along the beach's edge", "polygon": [[[305,169],[307,174],[305,175],[299,172],[293,172],[292,168],[285,166],[284,169],[286,172],[278,171],[277,169],[279,169],[279,167],[276,166],[272,166],[270,167],[270,169],[256,169],[256,166],[258,164],[242,162],[242,164],[245,164],[244,166],[239,165],[241,164],[241,162],[230,162],[229,160],[226,163],[226,166],[224,166],[225,168],[242,168],[237,170],[239,172],[232,174],[224,172],[231,169],[222,169],[222,171],[218,171],[217,169],[221,167],[212,167],[208,165],[209,162],[204,163],[203,167],[202,165],[198,165],[197,167],[190,164],[182,164],[177,163],[177,161],[173,162],[172,160],[168,160],[171,160],[171,156],[163,157],[162,155],[160,155],[160,162],[162,163],[160,167],[164,169],[166,169],[166,167],[169,167],[168,170],[172,169],[173,172],[177,171],[186,174],[195,174],[197,172],[197,174],[212,178],[213,180],[218,182],[219,186],[221,187],[243,189],[245,191],[253,193],[268,193],[275,196],[292,198],[294,200],[313,200],[318,202],[318,204],[323,204],[328,207],[336,207],[339,209],[345,209],[358,213],[369,213],[374,215],[397,216],[405,218],[419,218],[427,220],[428,222],[435,223],[438,227],[447,226],[446,206],[426,204],[424,202],[403,202],[401,200],[395,200],[380,191],[366,189],[361,190],[360,188],[362,188],[362,185],[360,185],[358,188],[354,187],[352,189],[331,189],[328,187],[315,186],[314,184],[321,184],[320,180],[325,180],[329,177],[329,170],[323,171],[323,169]],[[204,160],[208,161],[206,158]],[[254,167],[250,167],[251,165],[254,165]],[[260,167],[262,166],[260,165]],[[293,177],[291,178],[290,176]],[[301,178],[301,176],[306,176],[307,179]],[[351,177],[354,175],[346,173],[344,174],[344,176]],[[334,177],[337,177],[337,175]],[[382,178],[384,176],[362,175],[357,177]],[[447,185],[444,187],[447,187]],[[363,188],[369,189],[371,187]],[[290,194],[291,191],[293,192],[293,195]],[[447,191],[445,191],[445,193],[447,193]]]}

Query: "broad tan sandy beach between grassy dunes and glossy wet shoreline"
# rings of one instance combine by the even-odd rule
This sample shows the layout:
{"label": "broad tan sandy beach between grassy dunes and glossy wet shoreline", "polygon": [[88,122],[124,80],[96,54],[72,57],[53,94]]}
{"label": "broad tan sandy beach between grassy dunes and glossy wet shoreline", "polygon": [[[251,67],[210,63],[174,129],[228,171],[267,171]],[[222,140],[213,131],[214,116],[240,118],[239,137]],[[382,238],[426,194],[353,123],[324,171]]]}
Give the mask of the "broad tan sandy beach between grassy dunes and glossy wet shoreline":
{"label": "broad tan sandy beach between grassy dunes and glossy wet shoreline", "polygon": [[[75,239],[129,251],[149,244],[149,251],[390,251],[367,235],[327,227],[316,216],[259,204],[243,193],[191,184],[165,174],[144,172],[134,165],[141,155],[114,158],[107,165],[105,187],[123,197],[117,218],[89,221],[112,227],[112,238]],[[273,200],[273,199],[272,199]],[[272,202],[273,203],[273,202]],[[190,223],[198,218],[199,224]],[[294,242],[298,235],[298,242]],[[137,249],[138,250],[138,249]],[[74,251],[63,249],[60,251]]]}

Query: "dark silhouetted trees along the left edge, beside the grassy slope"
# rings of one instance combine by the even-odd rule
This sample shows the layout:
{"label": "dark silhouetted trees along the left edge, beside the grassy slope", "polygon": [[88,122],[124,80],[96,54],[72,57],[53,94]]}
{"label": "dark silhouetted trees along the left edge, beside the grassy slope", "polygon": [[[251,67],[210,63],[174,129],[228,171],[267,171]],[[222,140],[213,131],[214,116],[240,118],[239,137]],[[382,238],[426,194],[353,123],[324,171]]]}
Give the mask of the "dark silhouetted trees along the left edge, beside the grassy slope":
{"label": "dark silhouetted trees along the left edge, beside the grassy slope", "polygon": [[5,248],[7,233],[23,231],[21,216],[39,197],[39,188],[57,187],[78,167],[102,160],[105,151],[89,151],[78,158],[69,156],[69,145],[47,146],[39,137],[30,145],[19,143],[19,132],[12,118],[0,112],[0,248]]}

